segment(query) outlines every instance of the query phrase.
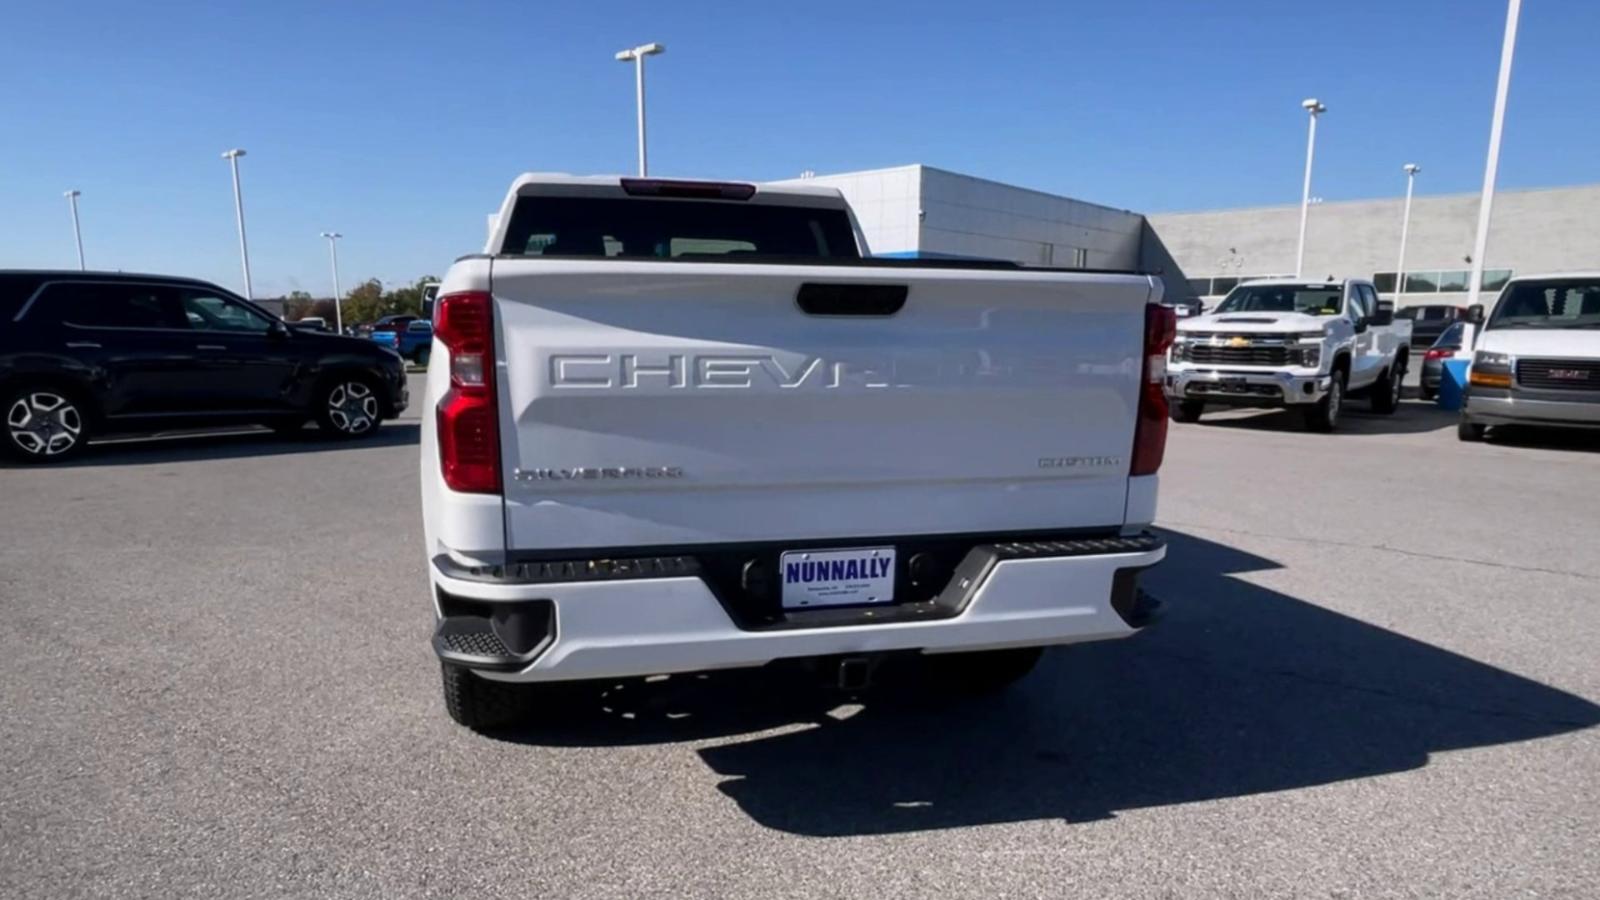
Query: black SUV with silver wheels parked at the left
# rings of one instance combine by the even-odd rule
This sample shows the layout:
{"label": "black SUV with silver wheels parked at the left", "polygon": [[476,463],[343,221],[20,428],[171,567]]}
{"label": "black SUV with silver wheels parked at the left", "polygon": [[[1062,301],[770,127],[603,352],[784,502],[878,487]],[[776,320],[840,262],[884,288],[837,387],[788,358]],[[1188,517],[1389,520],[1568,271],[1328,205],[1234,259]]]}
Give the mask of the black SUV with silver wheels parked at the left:
{"label": "black SUV with silver wheels parked at the left", "polygon": [[213,424],[362,437],[405,405],[392,351],[290,328],[206,282],[0,271],[0,447],[26,461]]}

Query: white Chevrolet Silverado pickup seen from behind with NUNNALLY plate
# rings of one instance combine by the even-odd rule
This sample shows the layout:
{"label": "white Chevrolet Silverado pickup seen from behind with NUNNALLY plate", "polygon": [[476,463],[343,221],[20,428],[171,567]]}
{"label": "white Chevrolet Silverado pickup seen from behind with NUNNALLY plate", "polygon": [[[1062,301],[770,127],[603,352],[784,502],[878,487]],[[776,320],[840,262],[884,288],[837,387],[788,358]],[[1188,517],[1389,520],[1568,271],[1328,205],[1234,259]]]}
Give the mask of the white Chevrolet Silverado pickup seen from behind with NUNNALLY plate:
{"label": "white Chevrolet Silverado pickup seen from behind with NUNNALLY plate", "polygon": [[522,176],[443,279],[422,516],[445,705],[922,657],[997,689],[1157,602],[1149,275],[872,259],[834,189]]}

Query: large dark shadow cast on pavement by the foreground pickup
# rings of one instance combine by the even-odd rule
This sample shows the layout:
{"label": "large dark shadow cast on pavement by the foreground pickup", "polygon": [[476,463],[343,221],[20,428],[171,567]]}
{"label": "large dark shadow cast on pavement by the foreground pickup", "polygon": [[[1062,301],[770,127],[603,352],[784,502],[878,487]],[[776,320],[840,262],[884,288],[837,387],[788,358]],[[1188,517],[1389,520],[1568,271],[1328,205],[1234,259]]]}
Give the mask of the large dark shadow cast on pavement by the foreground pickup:
{"label": "large dark shadow cast on pavement by the foreground pickup", "polygon": [[[718,790],[808,836],[1090,822],[1405,772],[1434,753],[1600,724],[1558,689],[1259,588],[1277,564],[1170,533],[1149,588],[1165,621],[1064,647],[1010,692],[934,701],[912,685],[859,705],[770,674],[629,682],[571,698],[538,745],[710,740]],[[749,740],[742,740],[749,735]]]}

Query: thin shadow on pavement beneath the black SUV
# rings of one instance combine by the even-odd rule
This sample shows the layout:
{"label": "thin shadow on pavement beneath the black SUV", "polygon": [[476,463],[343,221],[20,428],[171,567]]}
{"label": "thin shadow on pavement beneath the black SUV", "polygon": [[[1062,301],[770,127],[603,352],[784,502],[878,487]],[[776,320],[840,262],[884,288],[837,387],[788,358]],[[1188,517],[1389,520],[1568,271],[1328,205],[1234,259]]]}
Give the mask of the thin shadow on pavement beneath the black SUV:
{"label": "thin shadow on pavement beneath the black SUV", "polygon": [[[371,447],[400,447],[416,444],[421,437],[416,420],[387,421],[371,437],[334,440],[315,428],[294,434],[274,434],[264,428],[251,429],[195,429],[152,436],[126,436],[91,442],[83,453],[66,463],[43,468],[90,466],[142,466],[149,463],[186,463],[190,460],[242,460],[248,456],[283,456],[290,453],[320,453],[323,450],[362,450]],[[35,469],[0,456],[0,468]]]}

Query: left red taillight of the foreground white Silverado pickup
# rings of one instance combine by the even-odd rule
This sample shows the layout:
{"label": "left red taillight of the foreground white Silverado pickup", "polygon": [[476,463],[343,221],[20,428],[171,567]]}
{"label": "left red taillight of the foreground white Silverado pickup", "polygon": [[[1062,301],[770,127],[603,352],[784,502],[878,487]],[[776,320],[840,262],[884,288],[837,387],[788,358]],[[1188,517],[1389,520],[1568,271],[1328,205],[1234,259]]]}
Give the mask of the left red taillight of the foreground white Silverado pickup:
{"label": "left red taillight of the foreground white Silverado pickup", "polygon": [[494,299],[446,293],[434,336],[450,351],[450,391],[438,402],[438,468],[450,490],[499,493],[499,412],[494,402]]}

